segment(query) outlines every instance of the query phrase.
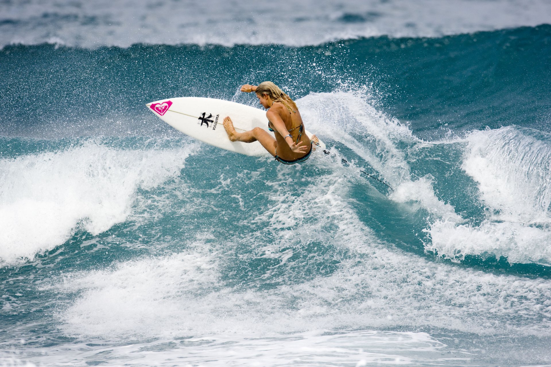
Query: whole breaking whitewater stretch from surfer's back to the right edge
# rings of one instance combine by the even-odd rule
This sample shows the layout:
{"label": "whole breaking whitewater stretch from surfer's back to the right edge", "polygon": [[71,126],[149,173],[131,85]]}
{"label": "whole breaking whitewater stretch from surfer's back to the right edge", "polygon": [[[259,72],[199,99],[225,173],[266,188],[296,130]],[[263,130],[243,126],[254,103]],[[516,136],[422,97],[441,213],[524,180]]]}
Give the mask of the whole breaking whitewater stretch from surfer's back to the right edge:
{"label": "whole breaking whitewater stretch from surfer's back to the right edge", "polygon": [[[510,126],[431,143],[370,98],[337,91],[298,102],[315,131],[342,143],[341,154],[368,163],[391,184],[389,199],[406,204],[404,212],[426,213],[426,251],[453,261],[494,256],[551,265],[549,134]],[[469,180],[476,189],[462,184]]]}

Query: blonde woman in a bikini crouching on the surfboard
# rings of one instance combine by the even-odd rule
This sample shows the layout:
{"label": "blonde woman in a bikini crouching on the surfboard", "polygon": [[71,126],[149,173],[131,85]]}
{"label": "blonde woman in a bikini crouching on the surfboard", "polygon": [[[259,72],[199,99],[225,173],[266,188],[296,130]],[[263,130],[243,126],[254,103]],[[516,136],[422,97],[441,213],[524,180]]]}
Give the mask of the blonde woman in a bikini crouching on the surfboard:
{"label": "blonde woman in a bikini crouching on the surfboard", "polygon": [[306,135],[299,109],[291,98],[271,81],[256,85],[241,86],[242,92],[256,92],[261,105],[268,109],[268,130],[273,131],[276,139],[261,128],[238,133],[229,117],[224,118],[224,128],[231,141],[252,143],[259,141],[266,150],[285,165],[304,162],[312,154],[312,144],[317,144],[316,135],[312,139]]}

